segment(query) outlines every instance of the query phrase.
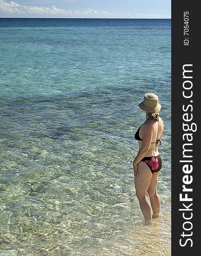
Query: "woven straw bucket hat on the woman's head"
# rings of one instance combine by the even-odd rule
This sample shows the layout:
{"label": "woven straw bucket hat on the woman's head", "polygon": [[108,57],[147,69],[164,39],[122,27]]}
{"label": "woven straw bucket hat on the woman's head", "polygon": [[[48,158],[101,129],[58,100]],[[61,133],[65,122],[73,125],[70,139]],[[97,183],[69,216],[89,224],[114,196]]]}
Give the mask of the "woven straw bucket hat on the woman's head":
{"label": "woven straw bucket hat on the woman's head", "polygon": [[154,93],[145,93],[144,101],[140,102],[138,106],[148,113],[159,112],[161,109],[161,104],[158,103],[158,96]]}

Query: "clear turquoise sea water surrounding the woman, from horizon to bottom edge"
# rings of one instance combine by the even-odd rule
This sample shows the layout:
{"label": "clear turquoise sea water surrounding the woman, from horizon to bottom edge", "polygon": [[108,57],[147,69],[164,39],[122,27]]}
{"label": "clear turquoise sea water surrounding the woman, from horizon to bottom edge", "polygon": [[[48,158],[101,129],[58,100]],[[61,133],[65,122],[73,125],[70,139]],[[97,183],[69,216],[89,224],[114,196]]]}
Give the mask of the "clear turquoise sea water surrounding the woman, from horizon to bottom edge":
{"label": "clear turquoise sea water surrounding the woman, from horizon to bottom edge", "polygon": [[[161,217],[144,227],[146,92],[164,136]],[[171,255],[171,20],[1,18],[0,119],[0,255]]]}

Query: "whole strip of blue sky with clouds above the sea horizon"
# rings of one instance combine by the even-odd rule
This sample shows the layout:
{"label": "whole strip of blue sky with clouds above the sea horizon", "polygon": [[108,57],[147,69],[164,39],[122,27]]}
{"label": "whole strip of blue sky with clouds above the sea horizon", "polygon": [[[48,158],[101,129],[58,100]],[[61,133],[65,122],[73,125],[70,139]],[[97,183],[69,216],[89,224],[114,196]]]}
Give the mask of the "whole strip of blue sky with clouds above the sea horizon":
{"label": "whole strip of blue sky with clouds above the sea horizon", "polygon": [[0,0],[0,17],[171,18],[171,0]]}

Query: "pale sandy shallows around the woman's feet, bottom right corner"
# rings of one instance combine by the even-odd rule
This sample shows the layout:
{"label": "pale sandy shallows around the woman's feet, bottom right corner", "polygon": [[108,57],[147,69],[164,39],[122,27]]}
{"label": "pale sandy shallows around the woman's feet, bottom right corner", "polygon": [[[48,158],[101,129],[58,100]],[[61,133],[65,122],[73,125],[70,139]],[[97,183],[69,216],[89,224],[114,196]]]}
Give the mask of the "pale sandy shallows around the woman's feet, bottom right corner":
{"label": "pale sandy shallows around the woman's feet, bottom right corner", "polygon": [[129,230],[127,236],[114,239],[112,247],[103,247],[101,252],[92,249],[79,255],[171,256],[171,206],[162,205],[160,217],[153,219],[152,224],[145,226],[142,221],[133,232]]}

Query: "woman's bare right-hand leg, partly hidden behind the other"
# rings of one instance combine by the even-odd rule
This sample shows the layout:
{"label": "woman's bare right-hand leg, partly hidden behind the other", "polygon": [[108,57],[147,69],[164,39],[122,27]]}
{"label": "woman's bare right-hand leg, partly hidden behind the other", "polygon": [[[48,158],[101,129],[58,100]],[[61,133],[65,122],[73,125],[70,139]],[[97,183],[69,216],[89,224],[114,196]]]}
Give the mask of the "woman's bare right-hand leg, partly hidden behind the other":
{"label": "woman's bare right-hand leg, partly hidden behind the other", "polygon": [[[159,171],[160,172],[160,171]],[[158,175],[159,172],[152,173],[152,179],[149,184],[149,188],[147,190],[153,210],[153,218],[158,217],[160,208],[161,208],[161,200],[159,198],[159,195],[157,193],[157,184],[158,184]]]}

